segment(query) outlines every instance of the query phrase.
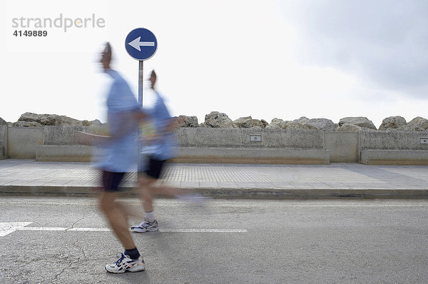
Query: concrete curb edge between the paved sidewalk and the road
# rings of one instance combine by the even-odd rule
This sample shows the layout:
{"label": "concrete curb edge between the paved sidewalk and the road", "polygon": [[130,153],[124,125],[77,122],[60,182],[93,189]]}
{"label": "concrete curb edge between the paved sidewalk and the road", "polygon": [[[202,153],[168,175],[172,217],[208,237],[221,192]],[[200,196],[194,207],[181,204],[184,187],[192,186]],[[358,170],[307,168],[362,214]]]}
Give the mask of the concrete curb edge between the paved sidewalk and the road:
{"label": "concrete curb edge between the paved sidewalk and the road", "polygon": [[[334,199],[384,198],[428,199],[427,189],[272,189],[272,188],[183,188],[210,198],[236,199]],[[7,196],[96,196],[93,186],[0,186],[0,195]],[[135,188],[123,187],[123,197],[136,197]]]}

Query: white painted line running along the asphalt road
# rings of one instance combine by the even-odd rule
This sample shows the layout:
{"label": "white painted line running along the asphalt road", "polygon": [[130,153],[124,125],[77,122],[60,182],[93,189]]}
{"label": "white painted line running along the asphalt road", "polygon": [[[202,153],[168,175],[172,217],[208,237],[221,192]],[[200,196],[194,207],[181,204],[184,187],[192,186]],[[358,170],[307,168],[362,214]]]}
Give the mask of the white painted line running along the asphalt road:
{"label": "white painted line running along the asphalt road", "polygon": [[[0,223],[0,237],[14,233],[16,230],[41,230],[41,231],[80,231],[80,232],[111,232],[109,228],[67,228],[67,227],[26,227],[32,222],[8,222]],[[161,233],[248,233],[246,229],[168,229],[161,228]]]}

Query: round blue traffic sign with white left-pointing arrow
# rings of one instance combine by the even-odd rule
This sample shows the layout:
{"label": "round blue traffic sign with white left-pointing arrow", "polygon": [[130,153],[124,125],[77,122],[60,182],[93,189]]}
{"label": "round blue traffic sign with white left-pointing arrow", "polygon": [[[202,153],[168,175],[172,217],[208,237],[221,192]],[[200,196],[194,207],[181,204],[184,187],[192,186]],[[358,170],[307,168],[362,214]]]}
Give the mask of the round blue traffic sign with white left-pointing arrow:
{"label": "round blue traffic sign with white left-pointing arrow", "polygon": [[148,29],[132,30],[125,39],[125,48],[128,54],[137,60],[150,59],[158,49],[156,36]]}

